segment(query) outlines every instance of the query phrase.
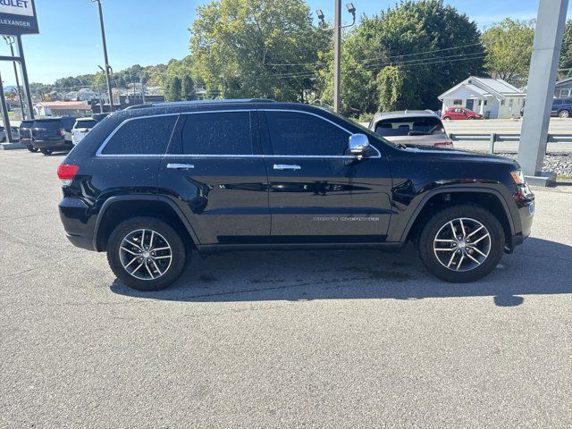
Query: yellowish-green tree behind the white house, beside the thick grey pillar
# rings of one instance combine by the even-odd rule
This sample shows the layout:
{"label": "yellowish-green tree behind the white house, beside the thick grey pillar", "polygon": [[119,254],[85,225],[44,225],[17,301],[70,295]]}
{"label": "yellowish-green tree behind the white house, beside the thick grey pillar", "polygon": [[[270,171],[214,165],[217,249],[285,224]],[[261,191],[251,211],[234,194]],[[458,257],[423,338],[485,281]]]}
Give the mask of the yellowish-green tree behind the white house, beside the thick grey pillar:
{"label": "yellowish-green tree behind the white house, beside the thick grey pillar", "polygon": [[507,18],[493,25],[483,33],[486,67],[509,83],[519,85],[526,82],[533,43],[534,21]]}

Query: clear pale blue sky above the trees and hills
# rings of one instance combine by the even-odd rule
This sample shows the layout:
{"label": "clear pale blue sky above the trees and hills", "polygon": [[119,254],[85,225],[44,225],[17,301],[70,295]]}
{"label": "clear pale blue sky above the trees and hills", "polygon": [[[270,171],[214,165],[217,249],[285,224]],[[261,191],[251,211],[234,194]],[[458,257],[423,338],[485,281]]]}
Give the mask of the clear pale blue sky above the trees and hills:
{"label": "clear pale blue sky above the trees and hills", "polygon": [[[189,55],[189,27],[199,4],[209,0],[101,0],[104,8],[109,62],[119,71],[133,64],[167,63]],[[349,1],[349,0],[348,0]],[[309,0],[332,20],[332,0]],[[346,0],[343,3],[347,3]],[[397,0],[353,0],[357,13],[372,15]],[[536,15],[538,0],[446,0],[467,13],[480,28],[506,17],[528,20]],[[31,82],[98,71],[103,65],[97,4],[90,0],[36,0],[40,33],[23,36]],[[344,17],[349,21],[349,14]],[[1,41],[1,39],[0,39]],[[0,44],[0,55],[8,55]],[[15,83],[10,63],[1,63],[4,85]]]}

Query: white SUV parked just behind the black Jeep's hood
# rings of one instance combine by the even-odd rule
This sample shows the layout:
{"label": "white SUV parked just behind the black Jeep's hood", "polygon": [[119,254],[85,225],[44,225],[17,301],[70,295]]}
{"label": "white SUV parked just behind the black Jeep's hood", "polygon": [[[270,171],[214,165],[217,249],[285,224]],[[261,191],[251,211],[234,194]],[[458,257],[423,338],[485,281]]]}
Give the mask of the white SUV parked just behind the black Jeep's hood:
{"label": "white SUV parked just behind the black Jeep's hood", "polygon": [[453,147],[441,119],[431,111],[374,114],[369,129],[384,139],[406,146]]}

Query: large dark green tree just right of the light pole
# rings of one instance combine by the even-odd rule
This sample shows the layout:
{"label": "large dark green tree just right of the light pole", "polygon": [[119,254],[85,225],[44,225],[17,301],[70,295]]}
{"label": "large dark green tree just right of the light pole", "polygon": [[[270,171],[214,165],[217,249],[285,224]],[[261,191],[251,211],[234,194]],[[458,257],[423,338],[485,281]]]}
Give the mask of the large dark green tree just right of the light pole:
{"label": "large dark green tree just right of the light pole", "polygon": [[[437,97],[481,74],[483,63],[480,32],[466,14],[442,0],[402,0],[344,38],[342,113],[438,108]],[[332,71],[321,75],[331,101]]]}

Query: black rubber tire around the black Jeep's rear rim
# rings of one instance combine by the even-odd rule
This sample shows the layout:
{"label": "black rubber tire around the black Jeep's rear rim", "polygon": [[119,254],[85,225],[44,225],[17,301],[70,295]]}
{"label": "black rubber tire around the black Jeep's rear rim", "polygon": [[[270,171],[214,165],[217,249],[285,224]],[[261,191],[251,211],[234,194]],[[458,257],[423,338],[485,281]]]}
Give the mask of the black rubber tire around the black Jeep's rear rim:
{"label": "black rubber tire around the black Jeep's rear rim", "polygon": [[[171,247],[171,264],[161,276],[154,280],[141,280],[134,277],[122,265],[120,248],[122,247],[123,239],[132,231],[137,230],[155,231]],[[154,291],[169,287],[172,282],[175,282],[181,276],[185,269],[186,260],[187,250],[179,232],[155,217],[133,217],[120,223],[111,233],[107,243],[107,261],[109,266],[120,282],[135,290]],[[136,262],[139,263],[139,261]]]}

